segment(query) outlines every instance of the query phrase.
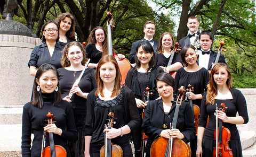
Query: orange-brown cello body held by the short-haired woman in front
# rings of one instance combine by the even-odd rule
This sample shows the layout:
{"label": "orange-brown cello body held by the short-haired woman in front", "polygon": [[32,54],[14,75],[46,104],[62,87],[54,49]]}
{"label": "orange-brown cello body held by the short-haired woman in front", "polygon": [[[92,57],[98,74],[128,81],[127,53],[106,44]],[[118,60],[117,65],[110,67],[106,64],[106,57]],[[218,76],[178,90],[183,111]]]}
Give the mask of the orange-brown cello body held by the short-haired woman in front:
{"label": "orange-brown cello body held by the short-haired woman in front", "polygon": [[[151,146],[150,156],[165,157],[165,150],[166,150],[168,141],[169,139],[167,138],[158,137]],[[158,143],[158,144],[155,144],[155,143]],[[162,143],[162,144],[159,144],[159,143]],[[182,139],[174,138],[173,145],[177,145],[175,149],[171,150],[173,157],[190,157],[191,156],[191,149],[189,145],[186,142],[184,142]],[[183,151],[183,150],[188,150],[188,151]]]}

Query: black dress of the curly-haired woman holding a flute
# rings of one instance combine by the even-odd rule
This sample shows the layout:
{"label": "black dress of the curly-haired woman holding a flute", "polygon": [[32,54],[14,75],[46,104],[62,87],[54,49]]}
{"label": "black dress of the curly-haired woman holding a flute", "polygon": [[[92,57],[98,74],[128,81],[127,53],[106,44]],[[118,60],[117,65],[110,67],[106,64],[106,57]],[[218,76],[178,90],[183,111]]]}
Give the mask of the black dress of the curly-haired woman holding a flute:
{"label": "black dress of the curly-haired woman holding a flute", "polygon": [[[65,68],[58,69],[60,76],[60,90],[61,98],[66,97],[69,94],[75,81],[78,79],[82,71],[68,71]],[[78,83],[82,92],[89,93],[93,89],[97,88],[97,84],[94,77],[95,70],[93,68],[87,68]],[[75,74],[75,75],[74,75]],[[71,105],[74,111],[75,124],[78,133],[78,140],[76,142],[69,142],[69,149],[71,156],[84,156],[84,130],[86,122],[86,99],[73,94],[70,99]]]}

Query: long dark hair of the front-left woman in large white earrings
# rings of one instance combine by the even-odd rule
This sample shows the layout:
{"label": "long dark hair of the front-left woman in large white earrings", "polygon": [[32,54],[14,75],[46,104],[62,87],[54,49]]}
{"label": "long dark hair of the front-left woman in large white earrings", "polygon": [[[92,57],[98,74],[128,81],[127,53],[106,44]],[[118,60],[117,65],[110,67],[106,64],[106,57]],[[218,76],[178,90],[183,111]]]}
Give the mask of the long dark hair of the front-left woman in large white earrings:
{"label": "long dark hair of the front-left woman in large white earrings", "polygon": [[54,74],[57,76],[58,78],[58,88],[59,90],[57,92],[54,91],[54,102],[53,102],[53,106],[58,106],[59,102],[62,100],[61,99],[61,95],[60,95],[60,86],[59,86],[59,73],[57,71],[57,68],[49,63],[45,63],[43,65],[41,65],[36,72],[36,76],[34,79],[34,84],[33,84],[33,93],[32,93],[32,101],[31,104],[33,104],[34,106],[38,107],[38,108],[42,108],[43,107],[43,98],[41,95],[41,91],[37,91],[37,80],[39,80],[39,78],[43,75],[43,73],[47,72],[47,71],[53,71]]}

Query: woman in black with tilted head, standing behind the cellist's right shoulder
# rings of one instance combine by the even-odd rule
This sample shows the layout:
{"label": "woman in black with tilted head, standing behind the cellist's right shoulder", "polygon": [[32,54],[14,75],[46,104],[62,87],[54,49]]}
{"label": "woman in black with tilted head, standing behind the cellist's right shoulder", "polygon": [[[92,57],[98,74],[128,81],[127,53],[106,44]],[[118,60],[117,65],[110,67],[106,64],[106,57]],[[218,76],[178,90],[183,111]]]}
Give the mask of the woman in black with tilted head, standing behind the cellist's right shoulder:
{"label": "woman in black with tilted head, standing behind the cellist's right shoulder", "polygon": [[[193,86],[193,92],[187,92],[188,99],[192,100],[193,104],[196,104],[199,108],[201,101],[206,91],[207,83],[209,82],[209,72],[202,67],[197,65],[198,54],[195,52],[193,45],[186,45],[182,48],[181,52],[182,62],[186,67],[180,68],[175,76],[175,88],[174,93],[178,94],[178,88],[183,85],[185,89],[190,84]],[[196,156],[196,144],[197,139],[190,142],[191,156]]]}

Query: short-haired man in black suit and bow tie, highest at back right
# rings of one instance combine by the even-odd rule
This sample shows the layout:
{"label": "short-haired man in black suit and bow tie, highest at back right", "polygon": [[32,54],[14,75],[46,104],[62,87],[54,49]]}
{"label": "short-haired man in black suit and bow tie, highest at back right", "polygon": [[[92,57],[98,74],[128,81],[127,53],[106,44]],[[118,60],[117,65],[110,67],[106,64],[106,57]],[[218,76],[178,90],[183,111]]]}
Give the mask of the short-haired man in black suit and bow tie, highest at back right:
{"label": "short-haired man in black suit and bow tie, highest at back right", "polygon": [[196,18],[196,16],[190,16],[188,18],[188,23],[187,23],[187,27],[188,27],[188,36],[180,39],[179,41],[179,46],[181,48],[183,48],[185,45],[188,44],[193,44],[195,46],[195,43],[197,43],[197,48],[199,48],[199,41],[198,41],[198,36],[199,36],[199,31],[198,31],[198,27],[199,27],[199,21]]}

